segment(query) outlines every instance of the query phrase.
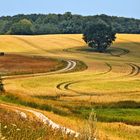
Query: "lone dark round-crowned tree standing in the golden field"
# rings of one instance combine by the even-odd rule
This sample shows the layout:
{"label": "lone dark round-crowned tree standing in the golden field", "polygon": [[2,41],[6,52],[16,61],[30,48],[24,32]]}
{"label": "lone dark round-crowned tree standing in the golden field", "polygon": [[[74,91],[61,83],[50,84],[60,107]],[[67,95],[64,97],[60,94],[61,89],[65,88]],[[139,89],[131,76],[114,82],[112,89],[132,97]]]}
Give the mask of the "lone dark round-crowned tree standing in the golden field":
{"label": "lone dark round-crowned tree standing in the golden field", "polygon": [[92,23],[85,29],[83,40],[97,52],[105,52],[115,41],[115,35],[111,26],[106,23]]}

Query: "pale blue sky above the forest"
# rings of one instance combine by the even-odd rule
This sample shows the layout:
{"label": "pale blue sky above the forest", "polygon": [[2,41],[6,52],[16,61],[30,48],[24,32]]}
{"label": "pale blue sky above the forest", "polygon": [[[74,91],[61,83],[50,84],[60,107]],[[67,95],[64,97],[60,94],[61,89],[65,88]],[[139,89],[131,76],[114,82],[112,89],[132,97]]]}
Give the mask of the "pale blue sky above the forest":
{"label": "pale blue sky above the forest", "polygon": [[0,0],[0,16],[31,13],[107,14],[140,19],[140,0]]}

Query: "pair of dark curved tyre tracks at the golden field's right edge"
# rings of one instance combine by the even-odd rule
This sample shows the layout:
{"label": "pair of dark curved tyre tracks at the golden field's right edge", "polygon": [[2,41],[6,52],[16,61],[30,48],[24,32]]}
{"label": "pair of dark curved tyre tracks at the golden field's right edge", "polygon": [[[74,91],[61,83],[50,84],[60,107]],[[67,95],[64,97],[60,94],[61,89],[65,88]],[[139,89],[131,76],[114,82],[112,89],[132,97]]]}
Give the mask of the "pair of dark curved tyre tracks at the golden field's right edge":
{"label": "pair of dark curved tyre tracks at the golden field's right edge", "polygon": [[131,67],[131,71],[126,76],[134,77],[134,76],[137,76],[140,73],[140,66],[138,66],[136,64],[133,64],[133,63],[128,63],[127,65],[129,67]]}

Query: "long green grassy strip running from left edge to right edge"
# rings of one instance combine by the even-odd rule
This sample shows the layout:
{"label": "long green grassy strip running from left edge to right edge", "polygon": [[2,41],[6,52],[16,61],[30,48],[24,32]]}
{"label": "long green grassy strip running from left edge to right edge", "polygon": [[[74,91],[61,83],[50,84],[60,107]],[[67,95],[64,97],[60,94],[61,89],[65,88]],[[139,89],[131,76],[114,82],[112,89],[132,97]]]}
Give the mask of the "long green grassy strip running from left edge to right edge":
{"label": "long green grassy strip running from left edge to right edge", "polygon": [[[41,109],[41,110],[46,110],[46,111],[52,111],[58,115],[62,116],[69,116],[69,115],[74,115],[75,117],[80,117],[83,119],[88,119],[89,114],[91,112],[91,108],[95,108],[95,112],[97,114],[97,119],[100,122],[123,122],[126,124],[131,124],[131,125],[140,125],[140,109],[139,109],[139,104],[133,103],[134,106],[132,108],[126,107],[127,104],[124,106],[124,103],[122,105],[119,104],[119,106],[82,106],[67,103],[67,104],[62,104],[61,108],[54,107],[53,105],[49,104],[42,104],[42,103],[37,103],[36,101],[28,101],[28,100],[23,100],[18,96],[12,95],[12,94],[4,94],[0,96],[0,100],[5,101],[5,102],[10,102],[10,103],[15,103],[15,104],[20,104],[36,109]],[[55,100],[55,99],[52,99]],[[127,103],[127,102],[126,102]],[[132,104],[132,105],[133,105]],[[124,106],[124,107],[123,107]],[[136,108],[135,108],[136,107]],[[69,111],[63,110],[63,108],[67,108]]]}

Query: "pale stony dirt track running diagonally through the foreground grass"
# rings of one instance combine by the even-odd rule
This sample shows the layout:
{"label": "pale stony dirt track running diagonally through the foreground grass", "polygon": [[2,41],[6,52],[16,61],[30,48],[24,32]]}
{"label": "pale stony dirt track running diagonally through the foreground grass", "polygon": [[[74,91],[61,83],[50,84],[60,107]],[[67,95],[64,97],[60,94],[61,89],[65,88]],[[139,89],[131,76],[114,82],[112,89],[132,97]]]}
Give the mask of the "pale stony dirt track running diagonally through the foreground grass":
{"label": "pale stony dirt track running diagonally through the foreground grass", "polygon": [[[11,108],[14,109],[15,111],[18,110],[18,112],[20,112],[19,110],[25,111],[25,112],[29,112],[32,113],[34,116],[36,116],[41,122],[43,122],[44,124],[50,126],[52,129],[54,130],[60,130],[61,132],[67,134],[67,135],[73,135],[75,137],[79,137],[80,133],[76,132],[72,129],[69,129],[67,127],[61,126],[55,122],[53,122],[52,120],[50,120],[48,117],[46,117],[44,114],[42,114],[39,111],[35,111],[35,110],[31,110],[31,109],[25,109],[25,108],[21,108],[21,107],[16,107],[16,106],[10,106],[10,105],[6,105],[6,104],[0,104],[1,106],[7,107],[7,108]],[[24,115],[26,114],[25,112],[22,112],[22,114],[24,113]]]}

